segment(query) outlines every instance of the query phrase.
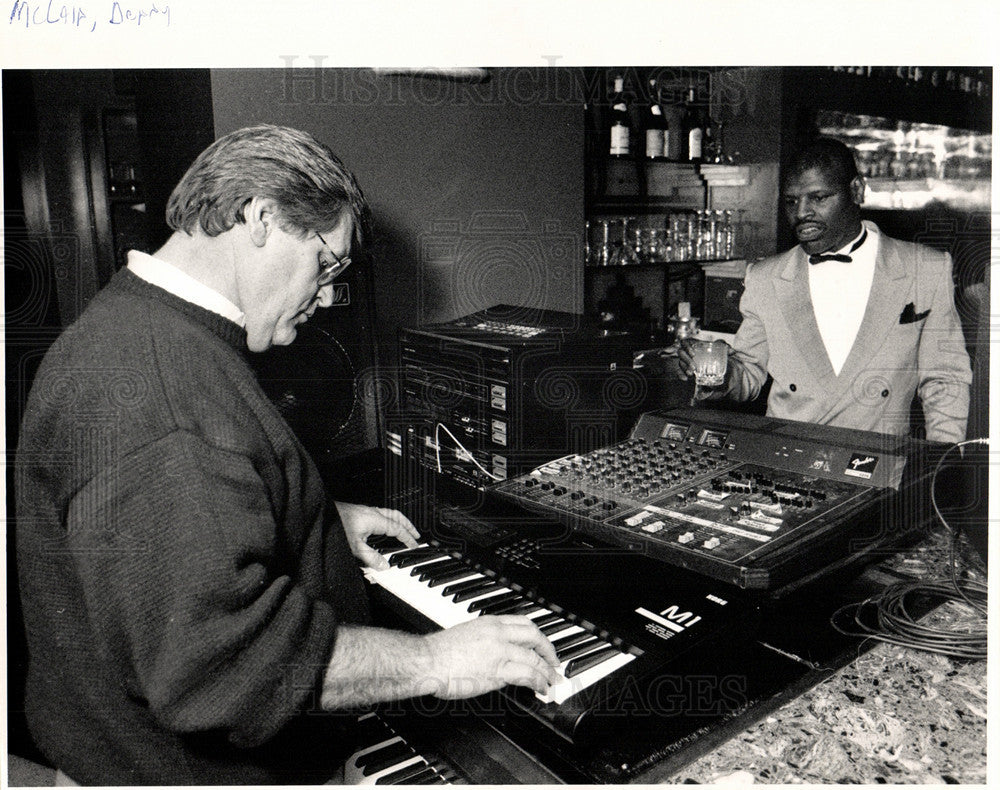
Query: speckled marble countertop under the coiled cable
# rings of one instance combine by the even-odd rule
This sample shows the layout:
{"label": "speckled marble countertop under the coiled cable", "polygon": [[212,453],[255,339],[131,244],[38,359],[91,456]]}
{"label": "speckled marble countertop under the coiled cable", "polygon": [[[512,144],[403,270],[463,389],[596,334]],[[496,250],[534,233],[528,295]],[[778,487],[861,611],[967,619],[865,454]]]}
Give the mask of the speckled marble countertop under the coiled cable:
{"label": "speckled marble countertop under the coiled cable", "polygon": [[[985,580],[964,543],[959,556],[971,578]],[[942,530],[887,570],[944,579],[949,559]],[[921,623],[983,626],[971,606],[952,601]],[[986,710],[986,661],[879,642],[670,781],[984,784]]]}

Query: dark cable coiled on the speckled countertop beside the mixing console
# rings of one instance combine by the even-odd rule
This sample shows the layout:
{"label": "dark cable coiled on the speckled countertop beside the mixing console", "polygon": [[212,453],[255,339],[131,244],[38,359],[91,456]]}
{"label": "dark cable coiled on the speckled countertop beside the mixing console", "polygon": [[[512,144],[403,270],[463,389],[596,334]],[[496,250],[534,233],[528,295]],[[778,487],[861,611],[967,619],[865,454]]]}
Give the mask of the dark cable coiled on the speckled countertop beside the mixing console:
{"label": "dark cable coiled on the speckled countertop beside the mixing console", "polygon": [[[902,647],[941,653],[952,658],[969,660],[986,658],[987,584],[985,581],[977,579],[958,578],[956,547],[960,532],[952,527],[941,513],[935,489],[938,473],[948,455],[953,450],[970,444],[985,445],[988,444],[988,440],[969,439],[952,445],[938,459],[931,475],[931,504],[938,520],[950,534],[949,578],[890,584],[878,595],[870,596],[860,603],[851,603],[840,607],[830,616],[830,624],[834,629],[845,636],[875,639]],[[972,608],[975,615],[978,615],[982,623],[967,628],[923,625],[913,617],[908,606],[908,602],[918,596],[943,602],[965,603]],[[848,617],[848,613],[852,609],[854,610],[853,625],[856,630],[837,624],[838,618]]]}

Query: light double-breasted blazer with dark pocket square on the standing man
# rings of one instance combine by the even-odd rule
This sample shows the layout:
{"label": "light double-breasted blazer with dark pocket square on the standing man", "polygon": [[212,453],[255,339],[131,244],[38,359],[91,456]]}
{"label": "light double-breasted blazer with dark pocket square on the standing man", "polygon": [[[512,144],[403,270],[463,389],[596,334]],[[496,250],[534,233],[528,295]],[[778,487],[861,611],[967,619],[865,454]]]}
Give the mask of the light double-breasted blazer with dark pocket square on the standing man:
{"label": "light double-breasted blazer with dark pocket square on the standing man", "polygon": [[770,373],[771,416],[906,434],[917,392],[927,438],[961,441],[972,372],[955,310],[951,256],[878,238],[868,306],[840,375],[816,324],[802,248],[750,266],[727,395],[756,397]]}

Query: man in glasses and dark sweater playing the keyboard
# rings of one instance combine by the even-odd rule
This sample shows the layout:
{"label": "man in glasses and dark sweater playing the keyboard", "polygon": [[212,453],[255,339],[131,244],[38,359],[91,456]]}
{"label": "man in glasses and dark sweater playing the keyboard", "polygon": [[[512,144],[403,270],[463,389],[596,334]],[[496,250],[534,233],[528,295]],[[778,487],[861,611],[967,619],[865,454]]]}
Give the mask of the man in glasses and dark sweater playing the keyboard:
{"label": "man in glasses and dark sweater playing the keyboard", "polygon": [[559,659],[523,614],[368,625],[367,539],[416,530],[326,502],[244,359],[332,303],[367,231],[354,177],[307,134],[242,129],[167,220],[47,354],[18,447],[26,713],[61,781],[323,782],[360,707],[544,693]]}

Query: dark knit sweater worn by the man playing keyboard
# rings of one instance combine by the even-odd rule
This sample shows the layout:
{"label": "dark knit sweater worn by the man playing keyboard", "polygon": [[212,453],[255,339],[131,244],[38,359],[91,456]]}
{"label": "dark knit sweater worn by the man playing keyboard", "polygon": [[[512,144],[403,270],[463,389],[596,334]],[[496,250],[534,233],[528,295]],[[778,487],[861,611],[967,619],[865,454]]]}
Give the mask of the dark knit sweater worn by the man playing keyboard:
{"label": "dark knit sweater worn by the man playing keyboard", "polygon": [[364,584],[245,349],[123,270],[39,369],[17,454],[26,709],[78,782],[313,783],[346,746],[317,689]]}

